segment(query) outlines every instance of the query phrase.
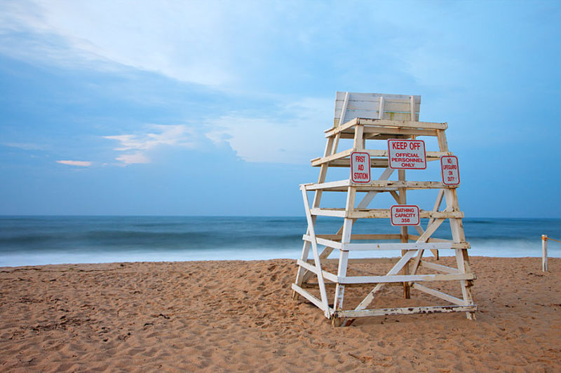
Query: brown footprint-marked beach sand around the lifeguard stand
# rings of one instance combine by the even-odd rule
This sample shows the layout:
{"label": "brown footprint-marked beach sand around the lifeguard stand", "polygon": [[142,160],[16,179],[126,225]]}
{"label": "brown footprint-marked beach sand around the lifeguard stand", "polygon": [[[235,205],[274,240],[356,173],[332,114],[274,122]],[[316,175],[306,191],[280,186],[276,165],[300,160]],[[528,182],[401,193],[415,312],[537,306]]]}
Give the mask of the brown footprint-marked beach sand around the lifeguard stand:
{"label": "brown footprint-marked beach sand around the lifeguard stand", "polygon": [[561,259],[550,258],[548,272],[541,258],[473,257],[471,265],[477,321],[387,316],[349,328],[292,300],[295,260],[1,267],[0,368],[561,370]]}

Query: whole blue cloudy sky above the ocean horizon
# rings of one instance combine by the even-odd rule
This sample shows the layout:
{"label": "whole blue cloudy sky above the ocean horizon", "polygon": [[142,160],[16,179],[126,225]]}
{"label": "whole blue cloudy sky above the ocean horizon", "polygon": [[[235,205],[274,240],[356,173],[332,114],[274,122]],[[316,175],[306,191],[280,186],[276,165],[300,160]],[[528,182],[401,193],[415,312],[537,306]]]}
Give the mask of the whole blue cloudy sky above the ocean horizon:
{"label": "whole blue cloudy sky above the ocean horizon", "polygon": [[560,218],[560,25],[559,1],[1,1],[0,213],[302,216],[350,91],[449,123],[466,216]]}

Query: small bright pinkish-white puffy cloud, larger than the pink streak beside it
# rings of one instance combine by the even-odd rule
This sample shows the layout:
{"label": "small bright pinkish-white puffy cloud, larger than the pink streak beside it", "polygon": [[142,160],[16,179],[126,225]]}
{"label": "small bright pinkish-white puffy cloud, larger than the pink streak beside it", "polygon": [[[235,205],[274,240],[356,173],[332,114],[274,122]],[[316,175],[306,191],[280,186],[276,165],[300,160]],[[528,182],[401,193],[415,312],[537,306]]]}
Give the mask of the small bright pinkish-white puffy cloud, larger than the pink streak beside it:
{"label": "small bright pinkish-white puffy cloud, larger than the pink streak beside it", "polygon": [[158,146],[180,146],[194,148],[196,134],[186,125],[147,125],[147,133],[104,136],[104,139],[119,141],[114,148],[119,152],[128,152],[115,159],[123,164],[150,163],[149,151]]}

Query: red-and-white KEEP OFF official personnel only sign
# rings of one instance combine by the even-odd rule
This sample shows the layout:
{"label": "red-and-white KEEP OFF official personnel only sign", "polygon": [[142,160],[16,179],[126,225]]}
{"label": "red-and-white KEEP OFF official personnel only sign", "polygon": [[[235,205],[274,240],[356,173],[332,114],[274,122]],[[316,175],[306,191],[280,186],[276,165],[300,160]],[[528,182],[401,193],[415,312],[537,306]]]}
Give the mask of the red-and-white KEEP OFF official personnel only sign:
{"label": "red-and-white KEEP OFF official personnel only sign", "polygon": [[426,169],[423,140],[388,140],[391,169]]}

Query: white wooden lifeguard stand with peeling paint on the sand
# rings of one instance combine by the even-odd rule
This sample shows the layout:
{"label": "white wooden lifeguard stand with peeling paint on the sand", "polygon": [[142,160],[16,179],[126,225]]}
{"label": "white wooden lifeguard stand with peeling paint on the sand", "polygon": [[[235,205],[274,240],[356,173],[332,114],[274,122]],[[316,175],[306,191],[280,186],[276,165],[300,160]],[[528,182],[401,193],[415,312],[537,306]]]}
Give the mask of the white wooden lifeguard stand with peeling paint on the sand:
{"label": "white wooden lifeguard stand with peeling paint on the sand", "polygon": [[[442,181],[407,181],[405,169],[396,167],[395,164],[392,166],[390,163],[388,145],[390,141],[388,139],[417,141],[421,136],[433,136],[438,140],[438,150],[426,151],[424,162],[435,160],[442,162],[445,159],[443,157],[452,158],[445,136],[447,123],[419,122],[420,104],[420,96],[337,92],[334,125],[325,131],[327,138],[325,153],[323,157],[311,160],[313,167],[320,167],[318,182],[300,185],[308,229],[303,237],[302,256],[297,260],[296,281],[292,283],[293,297],[297,299],[298,295],[302,295],[306,300],[315,304],[324,312],[326,318],[332,319],[333,325],[351,325],[355,318],[362,316],[432,314],[453,311],[465,311],[468,319],[475,319],[477,306],[473,303],[471,295],[475,274],[471,272],[469,265],[468,248],[470,245],[466,242],[461,221],[464,213],[459,209],[456,191],[458,185],[447,185],[444,180],[445,176],[442,176]],[[340,139],[353,139],[352,148],[338,150]],[[367,147],[370,144],[374,148]],[[354,156],[355,152],[367,153],[369,157],[366,159],[370,158],[370,167],[383,169],[377,180],[372,179],[367,183],[353,181],[353,176],[349,172],[351,176],[344,180],[326,181],[329,167],[348,167],[350,169],[351,155]],[[456,171],[458,171],[457,158],[455,164]],[[397,180],[390,180],[396,169],[398,169]],[[443,164],[442,169],[444,169]],[[370,173],[370,168],[367,171]],[[459,171],[457,179],[457,184],[459,184]],[[400,227],[398,234],[351,233],[353,224],[358,219],[389,220],[392,218],[392,210],[389,206],[386,209],[369,209],[370,202],[378,193],[389,193],[398,205],[406,205],[407,190],[438,190],[432,210],[417,210],[419,223],[421,223],[421,218],[428,218],[428,223],[424,228],[420,224],[412,226],[417,230],[417,234],[410,234],[407,231],[407,225]],[[313,192],[311,205],[308,192]],[[339,209],[320,206],[323,192],[345,192],[346,205]],[[365,193],[365,195],[357,204],[358,193]],[[445,208],[440,209],[443,200]],[[318,216],[342,218],[342,227],[335,234],[316,234]],[[452,239],[431,237],[445,220],[450,222]],[[356,241],[359,240],[369,240],[370,242],[357,243]],[[393,241],[379,243],[381,240]],[[396,242],[398,240],[399,242]],[[376,243],[372,243],[372,241]],[[321,247],[323,247],[322,251],[320,251]],[[313,258],[309,258],[310,248]],[[376,250],[396,250],[400,255],[393,260],[393,267],[387,274],[348,276],[348,269],[351,269],[350,267],[355,263],[373,263],[372,265],[375,266],[377,262],[375,258],[349,258],[349,251]],[[433,256],[438,259],[438,250],[452,251],[455,254],[457,267],[447,267],[423,260],[425,251],[431,251]],[[338,251],[339,258],[330,260],[328,257],[333,251]],[[337,264],[337,273],[325,270],[326,265],[330,262]],[[316,276],[317,283],[309,282],[312,276]],[[421,285],[426,281],[455,281],[461,288],[461,297]],[[369,308],[370,304],[374,302],[374,297],[379,295],[386,286],[401,286],[402,284],[403,296],[406,299],[410,298],[410,289],[414,289],[439,298],[439,304],[423,307]],[[332,288],[332,286],[334,286],[334,295],[328,295],[327,288]],[[361,295],[362,300],[350,309],[344,308],[346,305],[343,302],[345,286],[368,287],[365,297],[362,298],[364,295]],[[330,304],[330,300],[332,304]],[[445,301],[445,305],[442,305],[442,301]]]}

